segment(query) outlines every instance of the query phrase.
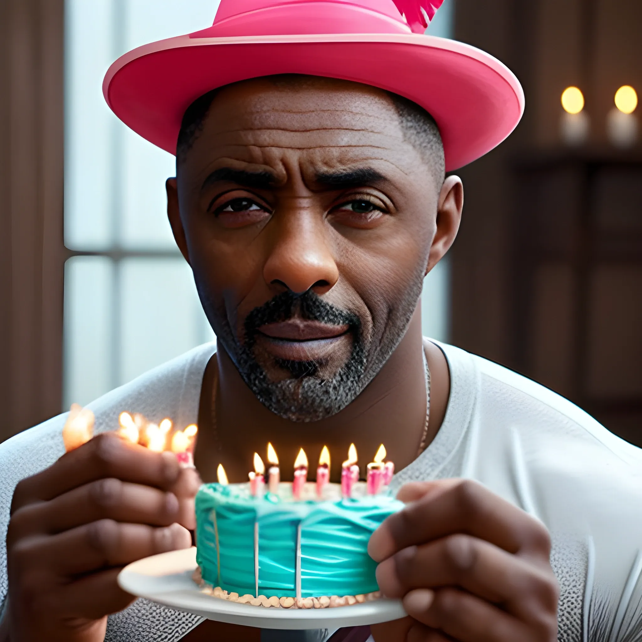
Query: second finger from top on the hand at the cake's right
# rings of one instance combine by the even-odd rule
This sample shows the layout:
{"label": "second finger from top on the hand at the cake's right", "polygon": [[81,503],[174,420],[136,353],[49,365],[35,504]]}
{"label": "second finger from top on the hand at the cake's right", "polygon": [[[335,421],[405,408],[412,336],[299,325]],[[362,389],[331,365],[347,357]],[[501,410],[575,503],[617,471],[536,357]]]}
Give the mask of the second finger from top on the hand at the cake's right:
{"label": "second finger from top on the hand at the cake's right", "polygon": [[377,583],[394,598],[412,589],[462,587],[523,620],[557,607],[557,580],[550,570],[470,535],[404,548],[379,564]]}

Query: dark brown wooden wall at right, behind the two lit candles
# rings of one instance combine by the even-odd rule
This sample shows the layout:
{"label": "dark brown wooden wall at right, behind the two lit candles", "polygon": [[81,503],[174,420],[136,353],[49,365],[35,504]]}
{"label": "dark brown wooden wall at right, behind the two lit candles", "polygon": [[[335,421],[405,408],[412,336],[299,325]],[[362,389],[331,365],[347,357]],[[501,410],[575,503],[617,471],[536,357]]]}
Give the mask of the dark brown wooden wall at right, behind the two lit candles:
{"label": "dark brown wooden wall at right, behind the two lit candles", "polygon": [[[642,445],[642,146],[609,145],[623,84],[642,94],[642,3],[457,0],[456,38],[516,71],[526,113],[462,169],[453,247],[453,342],[533,377]],[[588,143],[560,144],[577,85]],[[638,109],[638,116],[642,110]]]}

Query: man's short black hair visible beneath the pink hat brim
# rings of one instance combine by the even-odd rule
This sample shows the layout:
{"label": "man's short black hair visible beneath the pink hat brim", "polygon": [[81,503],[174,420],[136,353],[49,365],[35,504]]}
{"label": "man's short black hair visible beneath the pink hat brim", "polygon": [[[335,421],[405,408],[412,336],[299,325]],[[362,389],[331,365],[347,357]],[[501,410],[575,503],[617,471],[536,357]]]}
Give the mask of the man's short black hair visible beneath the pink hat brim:
{"label": "man's short black hair visible beneath the pink hat brim", "polygon": [[[300,82],[306,76],[303,74],[281,74],[279,76],[269,76],[269,78],[275,85],[282,85],[284,83]],[[223,87],[208,91],[207,94],[196,98],[187,107],[178,132],[176,144],[177,164],[184,160],[198,134],[202,131],[205,116],[207,116],[214,98],[216,98],[221,89]],[[412,100],[408,100],[408,98],[394,94],[391,91],[386,91],[386,94],[390,96],[390,100],[392,100],[397,110],[405,139],[419,150],[424,162],[428,165],[434,165],[436,170],[435,178],[441,182],[444,180],[446,163],[444,160],[444,144],[435,119],[421,105],[417,105]]]}

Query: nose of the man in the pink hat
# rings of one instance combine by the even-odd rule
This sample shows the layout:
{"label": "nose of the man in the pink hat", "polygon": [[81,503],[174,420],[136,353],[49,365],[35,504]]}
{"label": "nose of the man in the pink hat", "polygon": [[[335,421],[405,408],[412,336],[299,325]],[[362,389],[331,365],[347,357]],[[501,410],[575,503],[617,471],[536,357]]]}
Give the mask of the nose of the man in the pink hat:
{"label": "nose of the man in the pink hat", "polygon": [[311,211],[284,212],[273,222],[273,245],[263,277],[296,293],[330,290],[339,278],[322,216]]}

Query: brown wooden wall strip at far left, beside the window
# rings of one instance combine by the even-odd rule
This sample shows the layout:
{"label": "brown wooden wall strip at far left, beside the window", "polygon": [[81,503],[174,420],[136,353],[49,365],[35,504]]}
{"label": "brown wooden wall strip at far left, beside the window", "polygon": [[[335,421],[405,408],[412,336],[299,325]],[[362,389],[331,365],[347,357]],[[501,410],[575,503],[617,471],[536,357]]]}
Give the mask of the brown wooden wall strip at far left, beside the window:
{"label": "brown wooden wall strip at far left, beside the window", "polygon": [[64,0],[0,0],[0,441],[60,412]]}

